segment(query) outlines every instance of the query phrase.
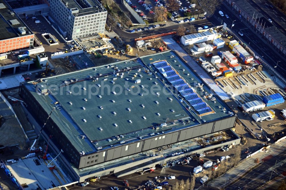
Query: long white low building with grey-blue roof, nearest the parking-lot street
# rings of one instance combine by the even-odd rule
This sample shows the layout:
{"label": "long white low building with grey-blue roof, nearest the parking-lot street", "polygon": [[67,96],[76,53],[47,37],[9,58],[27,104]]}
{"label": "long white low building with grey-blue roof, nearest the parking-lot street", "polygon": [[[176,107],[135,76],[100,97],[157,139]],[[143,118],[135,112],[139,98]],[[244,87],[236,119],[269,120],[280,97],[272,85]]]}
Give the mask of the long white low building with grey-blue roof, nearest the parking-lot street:
{"label": "long white low building with grey-blue roof, nearest the parking-lot street", "polygon": [[189,34],[181,37],[182,44],[184,46],[210,41],[218,38],[218,34],[214,30],[200,32],[195,34]]}

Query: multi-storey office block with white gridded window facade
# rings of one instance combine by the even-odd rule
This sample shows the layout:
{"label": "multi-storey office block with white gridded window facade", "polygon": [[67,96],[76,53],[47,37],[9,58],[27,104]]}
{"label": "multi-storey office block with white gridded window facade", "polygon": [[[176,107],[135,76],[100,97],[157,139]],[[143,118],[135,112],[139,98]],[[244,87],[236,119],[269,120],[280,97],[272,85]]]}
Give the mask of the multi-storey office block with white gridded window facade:
{"label": "multi-storey office block with white gridded window facade", "polygon": [[73,39],[104,33],[107,11],[97,0],[45,0],[60,32]]}

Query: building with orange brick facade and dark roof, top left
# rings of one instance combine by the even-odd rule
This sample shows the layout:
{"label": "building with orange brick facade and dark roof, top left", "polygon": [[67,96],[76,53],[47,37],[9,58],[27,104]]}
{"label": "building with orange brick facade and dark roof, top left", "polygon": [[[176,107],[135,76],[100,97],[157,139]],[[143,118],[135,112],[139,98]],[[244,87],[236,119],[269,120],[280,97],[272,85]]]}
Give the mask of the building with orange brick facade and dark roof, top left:
{"label": "building with orange brick facade and dark roof, top left", "polygon": [[34,34],[4,0],[0,0],[0,53],[29,48]]}

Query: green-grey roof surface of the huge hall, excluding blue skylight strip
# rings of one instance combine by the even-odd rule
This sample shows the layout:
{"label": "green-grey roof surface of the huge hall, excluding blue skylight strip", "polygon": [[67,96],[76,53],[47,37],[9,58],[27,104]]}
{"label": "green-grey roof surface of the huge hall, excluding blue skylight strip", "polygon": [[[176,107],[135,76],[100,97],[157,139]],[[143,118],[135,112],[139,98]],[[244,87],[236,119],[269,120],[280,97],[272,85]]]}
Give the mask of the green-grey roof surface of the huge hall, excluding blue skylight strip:
{"label": "green-grey roof surface of the huge hall, excluding blue skylight strip", "polygon": [[[150,65],[158,60],[168,63],[174,72],[193,88],[196,96],[202,99],[198,103],[200,105],[196,105],[198,109],[201,102],[205,102],[211,114],[199,115],[187,101],[180,102],[180,97],[174,93],[168,80]],[[138,79],[140,83],[135,83]],[[120,145],[122,140],[138,141],[140,138],[182,127],[231,117],[228,113],[231,110],[226,104],[216,95],[213,95],[216,101],[205,98],[206,94],[211,93],[210,89],[207,86],[200,89],[196,87],[197,83],[203,82],[174,52],[167,51],[51,76],[41,81],[29,81],[23,85],[47,113],[50,113],[54,106],[58,106],[59,109],[51,115],[53,121],[79,152],[90,153],[97,151],[96,147],[110,147],[115,143]],[[37,86],[40,89],[49,89],[49,94],[40,96],[35,90]],[[55,105],[54,102],[59,104]],[[188,120],[188,123],[182,124],[178,120]],[[167,126],[156,129],[156,126],[166,121]],[[87,138],[82,139],[80,135]],[[111,142],[108,140],[119,135],[124,135],[124,138]]]}

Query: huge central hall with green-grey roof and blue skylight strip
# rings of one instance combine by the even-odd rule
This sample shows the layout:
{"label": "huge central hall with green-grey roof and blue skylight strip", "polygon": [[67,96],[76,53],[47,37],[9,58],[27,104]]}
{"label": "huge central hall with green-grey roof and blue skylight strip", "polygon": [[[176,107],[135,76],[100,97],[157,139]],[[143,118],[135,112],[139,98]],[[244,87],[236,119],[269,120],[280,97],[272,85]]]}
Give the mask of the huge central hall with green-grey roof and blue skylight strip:
{"label": "huge central hall with green-grey roof and blue skylight strip", "polygon": [[237,116],[177,57],[167,51],[23,82],[19,93],[40,124],[56,107],[43,132],[63,149],[70,176],[117,173],[144,156],[119,159],[235,125]]}

